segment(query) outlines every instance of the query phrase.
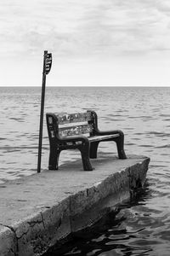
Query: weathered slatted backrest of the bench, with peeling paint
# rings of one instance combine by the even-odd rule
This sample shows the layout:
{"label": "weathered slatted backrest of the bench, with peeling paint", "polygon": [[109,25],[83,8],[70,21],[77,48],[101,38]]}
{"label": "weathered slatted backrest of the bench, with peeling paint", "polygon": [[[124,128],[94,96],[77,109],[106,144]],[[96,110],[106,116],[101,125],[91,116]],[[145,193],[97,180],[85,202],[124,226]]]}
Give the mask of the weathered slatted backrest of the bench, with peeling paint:
{"label": "weathered slatted backrest of the bench, with peeling paint", "polygon": [[93,133],[93,116],[86,113],[47,113],[48,134],[50,137],[67,137]]}

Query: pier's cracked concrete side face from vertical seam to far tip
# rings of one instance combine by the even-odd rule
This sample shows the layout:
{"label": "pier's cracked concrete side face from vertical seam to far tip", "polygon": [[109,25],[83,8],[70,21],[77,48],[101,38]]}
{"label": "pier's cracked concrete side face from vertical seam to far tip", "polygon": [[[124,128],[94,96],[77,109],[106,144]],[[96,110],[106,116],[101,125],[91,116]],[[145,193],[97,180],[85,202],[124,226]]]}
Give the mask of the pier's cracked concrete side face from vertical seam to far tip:
{"label": "pier's cracked concrete side face from vertical seam to far tip", "polygon": [[131,190],[144,183],[149,161],[147,158],[103,178],[89,189],[71,195],[71,232],[87,228],[105,215],[109,208],[127,200]]}

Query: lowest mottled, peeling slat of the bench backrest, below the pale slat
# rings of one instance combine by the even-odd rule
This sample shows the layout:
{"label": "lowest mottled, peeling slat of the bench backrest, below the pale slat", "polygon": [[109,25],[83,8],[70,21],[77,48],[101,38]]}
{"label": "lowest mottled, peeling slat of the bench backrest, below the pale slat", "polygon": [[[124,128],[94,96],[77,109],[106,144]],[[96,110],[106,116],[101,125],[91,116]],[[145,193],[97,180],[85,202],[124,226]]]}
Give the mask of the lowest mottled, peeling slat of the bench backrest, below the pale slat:
{"label": "lowest mottled, peeling slat of the bench backrest, below the pale slat", "polygon": [[60,137],[68,137],[80,134],[89,134],[93,131],[92,125],[77,125],[71,127],[63,127],[59,128],[59,136]]}

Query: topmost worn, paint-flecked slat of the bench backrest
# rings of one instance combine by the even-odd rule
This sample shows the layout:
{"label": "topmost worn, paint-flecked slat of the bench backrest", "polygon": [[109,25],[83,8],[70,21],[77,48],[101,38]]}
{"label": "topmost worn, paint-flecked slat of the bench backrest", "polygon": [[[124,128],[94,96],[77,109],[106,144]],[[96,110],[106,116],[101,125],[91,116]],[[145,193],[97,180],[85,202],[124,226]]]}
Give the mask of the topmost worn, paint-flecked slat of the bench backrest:
{"label": "topmost worn, paint-flecked slat of the bench backrest", "polygon": [[59,125],[64,125],[68,123],[77,123],[77,122],[83,122],[83,121],[90,121],[91,120],[91,114],[89,112],[86,113],[63,113],[63,114],[57,114],[57,119]]}

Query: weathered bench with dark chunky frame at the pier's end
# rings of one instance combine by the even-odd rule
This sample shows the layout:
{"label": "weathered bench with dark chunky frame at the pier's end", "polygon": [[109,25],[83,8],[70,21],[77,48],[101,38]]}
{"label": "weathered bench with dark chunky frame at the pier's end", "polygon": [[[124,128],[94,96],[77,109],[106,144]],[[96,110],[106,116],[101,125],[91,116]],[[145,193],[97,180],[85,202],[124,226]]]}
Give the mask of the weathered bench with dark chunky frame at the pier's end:
{"label": "weathered bench with dark chunky frame at the pier's end", "polygon": [[58,170],[59,154],[65,149],[79,149],[84,171],[92,171],[90,158],[97,158],[100,142],[116,143],[119,159],[126,159],[122,131],[99,131],[94,111],[86,113],[46,113],[49,138],[49,170]]}

